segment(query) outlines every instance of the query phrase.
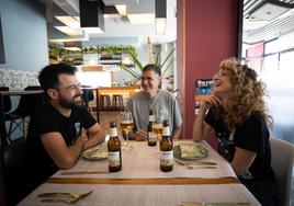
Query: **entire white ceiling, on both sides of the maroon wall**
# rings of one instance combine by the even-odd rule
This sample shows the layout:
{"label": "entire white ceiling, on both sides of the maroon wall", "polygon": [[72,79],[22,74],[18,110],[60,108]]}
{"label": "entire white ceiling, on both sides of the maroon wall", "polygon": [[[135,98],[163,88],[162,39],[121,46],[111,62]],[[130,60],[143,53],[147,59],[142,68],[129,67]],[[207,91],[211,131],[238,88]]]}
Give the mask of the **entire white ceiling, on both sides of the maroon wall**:
{"label": "entire white ceiling, on both sides of the maroon wall", "polygon": [[[66,15],[79,16],[79,0],[38,1],[46,5],[48,38],[53,42],[75,41],[77,36],[65,35],[54,27],[55,24],[60,24],[54,15],[63,12]],[[122,18],[117,14],[104,15],[104,33],[89,34],[88,37],[90,39],[115,37],[122,42],[126,38],[132,38],[133,43],[140,44],[147,41],[147,36],[150,36],[152,43],[173,42],[177,38],[177,0],[167,1],[167,27],[165,35],[156,35],[155,22],[149,24],[131,24],[127,18]],[[289,9],[282,15],[270,21],[255,18],[252,12],[263,1],[276,1],[294,7],[294,0],[244,0],[244,43],[256,44],[294,31],[294,9]],[[127,13],[155,13],[155,0],[103,0],[103,2],[106,7],[126,4]]]}

